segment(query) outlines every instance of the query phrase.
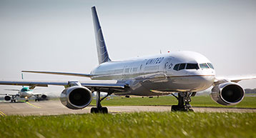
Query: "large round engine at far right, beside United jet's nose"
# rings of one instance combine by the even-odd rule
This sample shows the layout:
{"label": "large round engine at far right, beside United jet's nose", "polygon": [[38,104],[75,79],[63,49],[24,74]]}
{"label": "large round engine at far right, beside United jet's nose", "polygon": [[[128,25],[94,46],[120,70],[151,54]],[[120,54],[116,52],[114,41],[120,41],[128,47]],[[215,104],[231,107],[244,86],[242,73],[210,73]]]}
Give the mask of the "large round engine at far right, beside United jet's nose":
{"label": "large round engine at far right, beside United jet's nose", "polygon": [[245,90],[242,89],[240,84],[225,82],[213,87],[210,96],[218,104],[235,105],[245,97]]}

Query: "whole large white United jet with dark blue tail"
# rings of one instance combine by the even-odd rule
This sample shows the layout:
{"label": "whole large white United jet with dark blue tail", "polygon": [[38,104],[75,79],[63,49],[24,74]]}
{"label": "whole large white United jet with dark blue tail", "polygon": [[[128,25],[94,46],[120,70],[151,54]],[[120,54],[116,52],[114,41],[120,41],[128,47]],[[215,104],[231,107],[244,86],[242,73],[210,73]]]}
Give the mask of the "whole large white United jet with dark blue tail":
{"label": "whole large white United jet with dark blue tail", "polygon": [[[97,106],[91,113],[108,113],[102,100],[111,94],[135,96],[162,96],[172,94],[178,104],[172,111],[192,111],[189,104],[197,92],[210,87],[212,100],[222,105],[235,105],[245,97],[238,82],[256,79],[255,76],[218,79],[212,62],[195,51],[176,51],[154,56],[137,57],[125,61],[112,61],[99,23],[97,9],[92,7],[94,34],[99,65],[90,74],[68,72],[22,71],[27,73],[56,74],[89,77],[89,81],[15,81],[2,80],[4,85],[26,85],[31,88],[48,85],[64,86],[60,101],[69,109],[83,109],[92,102],[92,92],[97,92]],[[100,97],[101,92],[107,92]],[[177,93],[177,96],[173,93]]]}

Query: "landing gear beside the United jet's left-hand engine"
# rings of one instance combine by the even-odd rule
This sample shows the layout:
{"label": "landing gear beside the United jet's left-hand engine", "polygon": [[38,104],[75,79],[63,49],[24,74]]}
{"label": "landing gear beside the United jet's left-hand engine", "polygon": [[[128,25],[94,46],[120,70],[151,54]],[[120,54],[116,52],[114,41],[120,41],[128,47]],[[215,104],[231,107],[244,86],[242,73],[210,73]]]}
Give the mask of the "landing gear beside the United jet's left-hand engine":
{"label": "landing gear beside the United jet's left-hand engine", "polygon": [[100,102],[102,102],[103,99],[107,98],[110,94],[112,93],[108,93],[105,97],[103,97],[102,99],[100,99],[100,92],[97,91],[97,95],[96,95],[96,104],[97,107],[92,107],[91,108],[91,113],[103,113],[103,114],[107,114],[108,113],[108,109],[107,107],[102,107],[102,104]]}

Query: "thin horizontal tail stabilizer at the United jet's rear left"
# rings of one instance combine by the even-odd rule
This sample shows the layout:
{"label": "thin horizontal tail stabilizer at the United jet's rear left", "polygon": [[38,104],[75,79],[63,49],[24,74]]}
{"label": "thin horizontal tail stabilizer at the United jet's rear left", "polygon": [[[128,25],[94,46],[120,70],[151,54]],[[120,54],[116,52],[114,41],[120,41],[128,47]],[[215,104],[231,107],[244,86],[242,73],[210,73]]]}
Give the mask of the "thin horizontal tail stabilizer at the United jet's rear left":
{"label": "thin horizontal tail stabilizer at the United jet's rear left", "polygon": [[92,77],[92,74],[78,74],[78,73],[68,73],[68,72],[40,72],[40,71],[21,71],[36,74],[55,74],[55,75],[65,75],[74,77]]}

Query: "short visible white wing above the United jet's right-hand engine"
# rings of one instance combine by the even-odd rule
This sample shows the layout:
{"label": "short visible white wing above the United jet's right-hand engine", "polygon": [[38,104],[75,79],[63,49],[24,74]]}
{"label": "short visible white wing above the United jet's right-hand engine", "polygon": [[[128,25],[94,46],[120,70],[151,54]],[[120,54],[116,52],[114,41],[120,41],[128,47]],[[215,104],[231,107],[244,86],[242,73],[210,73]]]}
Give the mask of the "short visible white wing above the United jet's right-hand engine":
{"label": "short visible white wing above the United jet's right-hand engine", "polygon": [[256,75],[251,76],[240,76],[240,77],[218,77],[215,79],[215,84],[218,84],[219,82],[222,82],[223,80],[227,82],[240,82],[242,80],[250,80],[250,79],[256,79]]}

